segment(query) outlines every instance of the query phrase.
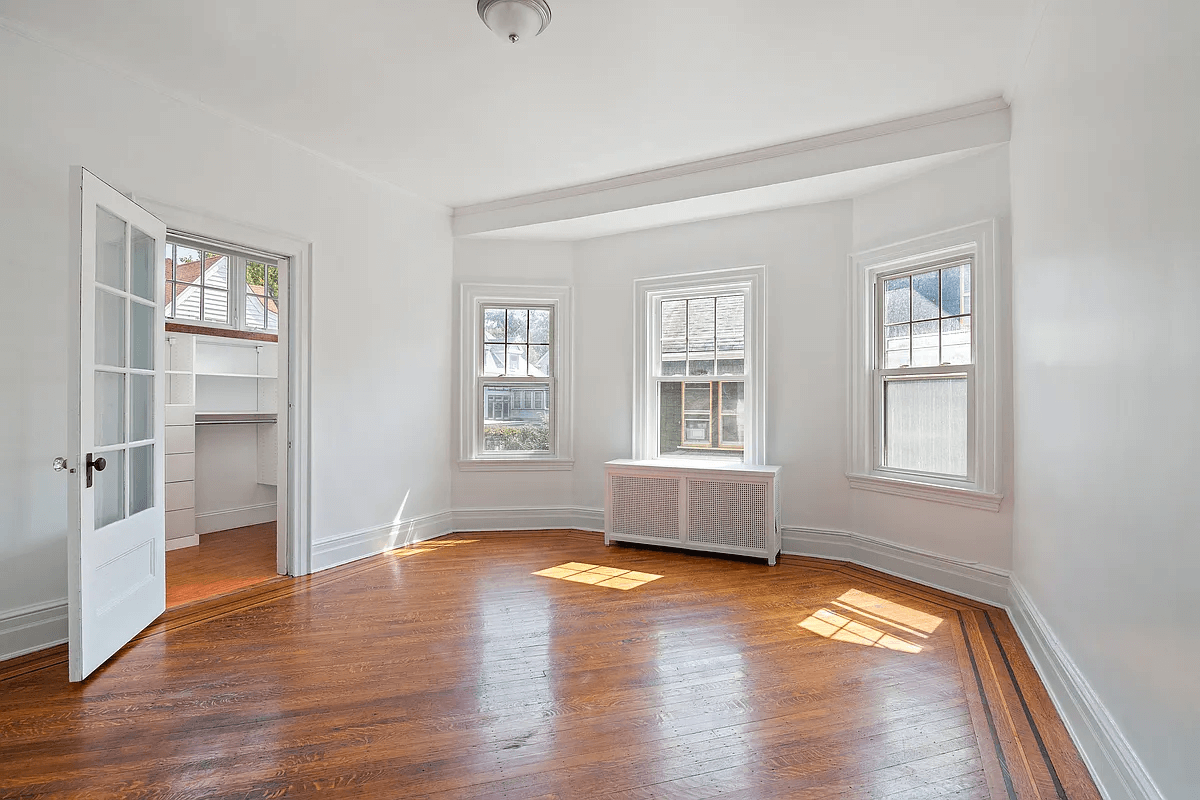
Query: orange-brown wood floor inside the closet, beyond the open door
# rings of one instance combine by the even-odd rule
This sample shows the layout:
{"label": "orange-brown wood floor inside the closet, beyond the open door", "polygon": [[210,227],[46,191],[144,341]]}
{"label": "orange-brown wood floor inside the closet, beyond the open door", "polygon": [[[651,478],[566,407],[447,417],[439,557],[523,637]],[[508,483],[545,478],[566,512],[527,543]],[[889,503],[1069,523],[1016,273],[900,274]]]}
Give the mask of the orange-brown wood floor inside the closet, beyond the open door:
{"label": "orange-brown wood floor inside the closet, beyond the open door", "polygon": [[167,553],[167,608],[277,577],[274,522],[203,534],[198,546]]}

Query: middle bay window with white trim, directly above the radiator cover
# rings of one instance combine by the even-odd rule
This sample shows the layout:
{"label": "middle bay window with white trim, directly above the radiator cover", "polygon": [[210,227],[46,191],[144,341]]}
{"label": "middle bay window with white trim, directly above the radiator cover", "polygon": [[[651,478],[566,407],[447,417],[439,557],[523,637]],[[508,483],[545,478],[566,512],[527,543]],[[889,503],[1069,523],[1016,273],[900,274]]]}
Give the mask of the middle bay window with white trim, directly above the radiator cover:
{"label": "middle bay window with white trim, directly above the radiator cover", "polygon": [[762,463],[764,283],[763,267],[637,282],[636,458]]}

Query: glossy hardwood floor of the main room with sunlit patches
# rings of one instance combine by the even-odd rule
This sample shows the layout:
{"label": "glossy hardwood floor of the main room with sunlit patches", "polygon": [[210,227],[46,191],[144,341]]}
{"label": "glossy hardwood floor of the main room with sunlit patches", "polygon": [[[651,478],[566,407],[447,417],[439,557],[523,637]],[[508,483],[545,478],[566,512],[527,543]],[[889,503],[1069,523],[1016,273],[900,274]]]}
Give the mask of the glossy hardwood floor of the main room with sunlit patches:
{"label": "glossy hardwood floor of the main room with sunlit patches", "polygon": [[82,685],[0,664],[0,798],[318,792],[1099,798],[1003,612],[814,559],[456,535],[170,610]]}

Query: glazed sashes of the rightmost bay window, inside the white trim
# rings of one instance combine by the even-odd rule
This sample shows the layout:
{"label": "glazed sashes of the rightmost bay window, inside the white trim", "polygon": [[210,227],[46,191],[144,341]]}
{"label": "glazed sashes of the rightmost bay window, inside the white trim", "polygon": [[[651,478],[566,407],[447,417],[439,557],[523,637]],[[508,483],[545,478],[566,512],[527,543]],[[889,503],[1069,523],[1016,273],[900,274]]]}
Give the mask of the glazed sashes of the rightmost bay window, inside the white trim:
{"label": "glazed sashes of the rightmost bay window, inside the white trim", "polygon": [[876,281],[877,469],[973,480],[971,270],[964,259]]}

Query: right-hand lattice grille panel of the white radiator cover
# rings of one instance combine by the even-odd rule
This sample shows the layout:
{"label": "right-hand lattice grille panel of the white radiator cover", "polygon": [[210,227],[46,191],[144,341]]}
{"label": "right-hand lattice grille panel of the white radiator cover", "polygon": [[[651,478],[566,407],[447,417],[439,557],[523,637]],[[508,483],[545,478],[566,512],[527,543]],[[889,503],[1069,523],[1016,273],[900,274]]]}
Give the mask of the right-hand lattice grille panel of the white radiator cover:
{"label": "right-hand lattice grille panel of the white radiator cover", "polygon": [[688,481],[688,541],[767,548],[767,487],[732,481]]}

